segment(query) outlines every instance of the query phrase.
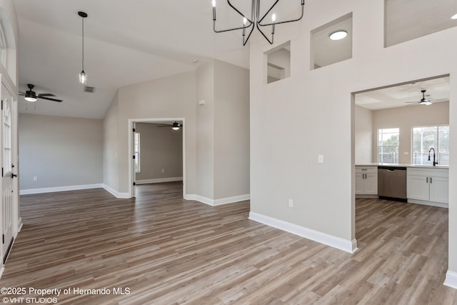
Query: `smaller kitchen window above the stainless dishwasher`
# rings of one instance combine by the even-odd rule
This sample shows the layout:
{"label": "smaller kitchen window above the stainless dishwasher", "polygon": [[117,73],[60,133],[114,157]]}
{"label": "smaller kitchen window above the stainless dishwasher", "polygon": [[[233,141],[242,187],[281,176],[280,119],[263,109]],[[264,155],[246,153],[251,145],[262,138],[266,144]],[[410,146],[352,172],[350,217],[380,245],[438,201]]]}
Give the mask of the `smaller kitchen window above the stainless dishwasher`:
{"label": "smaller kitchen window above the stainless dishwasher", "polygon": [[378,129],[378,162],[398,164],[400,129]]}

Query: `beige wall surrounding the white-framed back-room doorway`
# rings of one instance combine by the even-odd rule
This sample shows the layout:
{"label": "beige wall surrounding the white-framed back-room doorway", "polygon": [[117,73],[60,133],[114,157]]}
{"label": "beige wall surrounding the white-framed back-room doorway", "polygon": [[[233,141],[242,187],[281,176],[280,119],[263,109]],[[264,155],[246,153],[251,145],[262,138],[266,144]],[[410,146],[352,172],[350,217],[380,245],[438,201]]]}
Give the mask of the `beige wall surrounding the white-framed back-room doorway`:
{"label": "beige wall surrounding the white-framed back-room doorway", "polygon": [[196,72],[125,86],[118,94],[118,108],[104,118],[118,117],[117,169],[106,169],[118,181],[115,191],[122,196],[129,193],[129,119],[184,118],[186,191],[196,194]]}

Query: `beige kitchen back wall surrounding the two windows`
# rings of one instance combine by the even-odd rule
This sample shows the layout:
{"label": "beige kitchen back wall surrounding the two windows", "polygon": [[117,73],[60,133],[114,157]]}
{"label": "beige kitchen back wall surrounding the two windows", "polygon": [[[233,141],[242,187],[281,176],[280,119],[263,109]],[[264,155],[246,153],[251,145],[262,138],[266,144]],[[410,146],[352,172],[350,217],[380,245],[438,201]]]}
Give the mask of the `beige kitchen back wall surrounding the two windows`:
{"label": "beige kitchen back wall surrounding the two windows", "polygon": [[[377,162],[378,129],[399,128],[398,163],[412,163],[411,134],[415,126],[449,124],[449,103],[443,101],[429,106],[416,105],[373,111],[373,162]],[[405,154],[406,153],[406,154]]]}

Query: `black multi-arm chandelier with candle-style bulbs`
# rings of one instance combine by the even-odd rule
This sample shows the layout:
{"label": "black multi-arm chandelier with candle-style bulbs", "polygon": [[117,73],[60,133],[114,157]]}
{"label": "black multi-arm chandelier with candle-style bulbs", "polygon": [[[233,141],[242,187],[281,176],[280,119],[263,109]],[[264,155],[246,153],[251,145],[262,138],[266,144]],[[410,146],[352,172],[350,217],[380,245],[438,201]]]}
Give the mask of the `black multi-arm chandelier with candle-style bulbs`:
{"label": "black multi-arm chandelier with candle-style bulbs", "polygon": [[[274,26],[276,24],[286,24],[288,22],[293,22],[293,21],[298,21],[303,17],[303,6],[305,5],[305,0],[301,0],[301,16],[298,19],[293,19],[293,20],[287,20],[287,21],[280,21],[276,22],[276,14],[271,14],[271,22],[268,24],[262,24],[263,19],[266,18],[266,16],[270,13],[270,11],[276,6],[276,4],[279,2],[279,0],[274,1],[273,5],[266,11],[266,13],[263,16],[260,16],[260,0],[252,0],[251,1],[251,18],[248,18],[245,14],[241,13],[240,10],[238,10],[233,4],[231,4],[230,0],[227,0],[227,4],[236,11],[241,17],[243,17],[243,26],[238,26],[233,29],[225,29],[225,30],[216,30],[216,0],[212,0],[213,4],[213,30],[216,33],[222,33],[224,31],[236,31],[236,30],[243,30],[243,46],[246,45],[246,43],[249,40],[249,37],[252,34],[252,31],[254,30],[254,26],[260,31],[263,37],[270,43],[273,44],[273,36],[274,36]],[[271,26],[271,40],[268,39],[266,34],[263,33],[261,30],[261,26]],[[246,29],[248,30],[249,34],[246,37]]]}

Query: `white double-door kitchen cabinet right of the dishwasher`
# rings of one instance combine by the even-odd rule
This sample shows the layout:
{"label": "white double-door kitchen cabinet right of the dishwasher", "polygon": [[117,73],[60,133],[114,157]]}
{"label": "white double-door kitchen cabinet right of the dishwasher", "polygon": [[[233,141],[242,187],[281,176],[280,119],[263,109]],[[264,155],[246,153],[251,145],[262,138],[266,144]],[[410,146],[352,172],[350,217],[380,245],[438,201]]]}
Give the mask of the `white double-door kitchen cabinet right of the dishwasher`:
{"label": "white double-door kitchen cabinet right of the dishwasher", "polygon": [[447,206],[449,202],[448,169],[408,167],[406,196],[409,202]]}

